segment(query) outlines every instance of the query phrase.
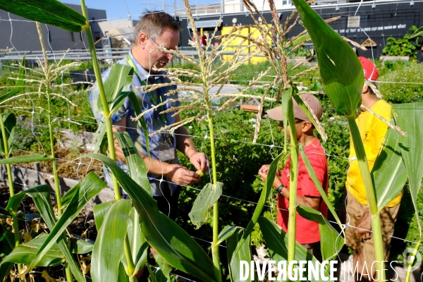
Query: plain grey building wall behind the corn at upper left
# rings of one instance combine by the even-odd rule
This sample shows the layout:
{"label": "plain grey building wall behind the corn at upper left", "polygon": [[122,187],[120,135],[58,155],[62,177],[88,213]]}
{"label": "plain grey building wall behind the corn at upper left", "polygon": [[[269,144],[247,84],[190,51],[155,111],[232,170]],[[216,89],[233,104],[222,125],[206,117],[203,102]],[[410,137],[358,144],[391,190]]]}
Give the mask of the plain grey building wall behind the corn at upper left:
{"label": "plain grey building wall behind the corn at upper left", "polygon": [[[82,13],[80,6],[73,4],[66,5]],[[107,18],[106,11],[92,8],[88,8],[88,16],[90,20],[92,20],[92,18],[95,20]],[[41,51],[41,44],[39,43],[35,22],[13,14],[10,14],[10,18],[12,21],[8,20],[8,12],[0,10],[0,49],[6,49],[6,47],[12,47],[13,45],[17,51]],[[93,36],[96,32],[101,33],[97,21],[91,22],[91,26]],[[69,48],[85,49],[85,45],[88,46],[85,32],[83,33],[84,45],[80,33],[78,32],[69,32],[52,25],[42,24],[41,27],[47,49],[60,51]]]}

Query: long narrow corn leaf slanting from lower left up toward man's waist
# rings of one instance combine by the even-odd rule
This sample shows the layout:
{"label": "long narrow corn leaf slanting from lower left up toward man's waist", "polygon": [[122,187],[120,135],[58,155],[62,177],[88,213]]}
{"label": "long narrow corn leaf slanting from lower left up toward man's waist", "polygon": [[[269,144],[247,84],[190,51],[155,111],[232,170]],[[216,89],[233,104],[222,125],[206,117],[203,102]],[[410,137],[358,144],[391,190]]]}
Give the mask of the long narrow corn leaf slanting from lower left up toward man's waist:
{"label": "long narrow corn leaf slanting from lower left up toward man's waist", "polygon": [[68,227],[73,219],[75,219],[75,217],[82,211],[87,202],[89,202],[105,187],[106,183],[95,175],[94,172],[90,172],[81,183],[78,183],[68,191],[69,195],[73,195],[72,200],[54,227],[50,228],[51,231],[49,233],[49,237],[42,247],[40,247],[39,253],[35,256],[30,266],[28,266],[29,270],[33,269],[34,266],[37,265],[39,259],[41,259],[50,247],[54,245],[56,240],[61,237],[63,231],[65,231],[66,227]]}

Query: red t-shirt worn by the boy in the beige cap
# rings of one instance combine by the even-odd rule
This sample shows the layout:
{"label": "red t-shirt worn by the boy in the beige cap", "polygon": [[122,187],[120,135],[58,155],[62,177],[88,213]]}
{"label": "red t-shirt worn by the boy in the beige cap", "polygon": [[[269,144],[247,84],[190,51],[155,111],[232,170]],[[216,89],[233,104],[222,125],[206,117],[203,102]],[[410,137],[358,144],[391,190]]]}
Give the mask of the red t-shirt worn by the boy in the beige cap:
{"label": "red t-shirt worn by the boy in the beige cap", "polygon": [[[326,195],[329,188],[329,175],[328,175],[328,163],[326,161],[326,155],[320,142],[315,138],[307,147],[304,148],[305,154],[312,165],[314,172],[321,187],[324,188]],[[281,182],[286,185],[289,190],[289,175],[290,175],[290,158],[286,162],[283,168],[281,176]],[[305,168],[304,161],[302,161],[301,155],[298,161],[298,183],[297,183],[297,195],[320,197],[319,212],[325,217],[328,215],[328,207],[324,200],[321,198],[319,190],[314,185],[312,178],[310,178],[307,168]],[[281,226],[284,231],[288,232],[288,207],[289,201],[286,197],[278,195],[278,226]],[[295,240],[300,244],[312,244],[320,241],[319,234],[319,223],[316,221],[309,221],[297,213],[297,232]]]}

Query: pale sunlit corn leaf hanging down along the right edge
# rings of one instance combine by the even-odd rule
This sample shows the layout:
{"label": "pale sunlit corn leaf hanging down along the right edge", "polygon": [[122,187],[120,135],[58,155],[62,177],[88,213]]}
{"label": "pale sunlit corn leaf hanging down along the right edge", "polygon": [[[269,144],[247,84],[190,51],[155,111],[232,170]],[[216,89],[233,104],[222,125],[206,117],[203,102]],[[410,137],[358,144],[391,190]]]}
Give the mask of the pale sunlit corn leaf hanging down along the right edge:
{"label": "pale sunlit corn leaf hanging down along the right edge", "polygon": [[393,106],[396,112],[396,125],[407,133],[407,137],[400,136],[401,155],[407,168],[408,183],[412,204],[415,207],[419,233],[422,236],[422,223],[417,207],[417,195],[422,185],[423,159],[423,103],[398,104]]}

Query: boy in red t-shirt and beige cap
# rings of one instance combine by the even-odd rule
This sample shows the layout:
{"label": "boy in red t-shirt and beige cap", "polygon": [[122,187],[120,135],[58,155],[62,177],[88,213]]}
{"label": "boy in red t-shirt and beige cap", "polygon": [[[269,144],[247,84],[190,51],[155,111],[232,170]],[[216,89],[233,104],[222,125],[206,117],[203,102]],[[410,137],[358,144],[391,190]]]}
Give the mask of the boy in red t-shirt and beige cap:
{"label": "boy in red t-shirt and beige cap", "polygon": [[[313,109],[317,118],[321,118],[322,107],[319,100],[313,94],[302,94],[302,99],[307,101],[310,108]],[[321,187],[324,188],[326,194],[329,188],[329,173],[328,163],[326,161],[326,154],[323,147],[321,147],[319,140],[314,136],[314,125],[309,120],[307,115],[302,111],[297,102],[293,99],[294,116],[295,116],[295,134],[300,146],[304,148],[304,152],[316,173]],[[267,111],[269,118],[280,121],[278,127],[284,132],[283,128],[283,114],[282,106]],[[288,140],[291,138],[289,130],[287,131]],[[265,164],[259,170],[259,176],[262,180],[266,180],[267,173],[269,172],[269,164]],[[289,219],[289,179],[290,179],[290,158],[286,161],[286,165],[282,170],[276,172],[273,187],[278,192],[278,226],[281,226],[284,231],[288,232],[288,219]],[[305,163],[301,156],[298,160],[298,182],[297,182],[297,204],[302,204],[306,207],[316,209],[324,216],[328,214],[328,207],[321,198],[319,190],[312,178],[310,178]],[[320,234],[319,223],[309,221],[299,214],[297,214],[297,227],[296,227],[295,240],[302,244],[309,252],[321,261],[320,250]]]}

